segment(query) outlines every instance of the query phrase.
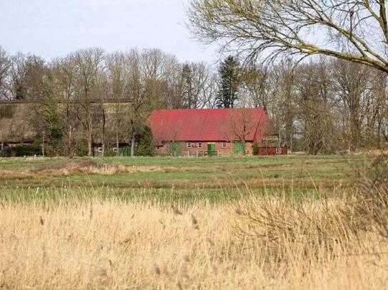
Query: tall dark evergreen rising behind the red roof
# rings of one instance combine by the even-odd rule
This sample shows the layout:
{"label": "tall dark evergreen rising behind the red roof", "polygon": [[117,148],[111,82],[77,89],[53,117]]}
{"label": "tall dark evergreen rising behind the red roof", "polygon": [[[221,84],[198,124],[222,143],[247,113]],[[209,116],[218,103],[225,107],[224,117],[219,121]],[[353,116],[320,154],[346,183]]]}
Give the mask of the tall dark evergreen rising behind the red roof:
{"label": "tall dark evergreen rising behind the red roof", "polygon": [[239,77],[240,64],[234,56],[228,56],[219,66],[221,83],[217,95],[217,106],[219,108],[233,108],[240,86]]}

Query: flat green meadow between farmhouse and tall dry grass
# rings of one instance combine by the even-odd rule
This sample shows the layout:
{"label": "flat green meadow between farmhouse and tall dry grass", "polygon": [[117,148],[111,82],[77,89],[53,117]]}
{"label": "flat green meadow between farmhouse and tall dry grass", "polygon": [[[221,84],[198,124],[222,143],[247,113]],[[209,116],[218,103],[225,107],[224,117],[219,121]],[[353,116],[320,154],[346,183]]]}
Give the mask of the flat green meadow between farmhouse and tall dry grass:
{"label": "flat green meadow between farmhouse and tall dry grass", "polygon": [[0,198],[219,202],[242,195],[337,195],[354,189],[369,155],[0,159]]}

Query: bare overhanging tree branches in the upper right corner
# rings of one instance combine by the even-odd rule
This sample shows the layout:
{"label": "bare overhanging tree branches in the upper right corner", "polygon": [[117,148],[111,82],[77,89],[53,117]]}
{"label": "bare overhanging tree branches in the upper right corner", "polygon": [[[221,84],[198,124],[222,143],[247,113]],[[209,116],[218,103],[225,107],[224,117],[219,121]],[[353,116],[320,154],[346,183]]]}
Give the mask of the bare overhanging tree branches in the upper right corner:
{"label": "bare overhanging tree branches in the upper right corner", "polygon": [[385,0],[191,0],[189,24],[249,58],[323,54],[388,72]]}

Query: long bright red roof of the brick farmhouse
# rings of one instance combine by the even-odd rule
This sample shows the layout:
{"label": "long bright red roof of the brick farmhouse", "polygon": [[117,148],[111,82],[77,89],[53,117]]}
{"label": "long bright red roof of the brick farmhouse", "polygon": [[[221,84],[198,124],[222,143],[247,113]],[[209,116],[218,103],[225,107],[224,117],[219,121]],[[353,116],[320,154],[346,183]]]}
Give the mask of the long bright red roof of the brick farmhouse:
{"label": "long bright red roof of the brick farmhouse", "polygon": [[156,142],[262,141],[268,117],[262,108],[154,110],[146,121]]}

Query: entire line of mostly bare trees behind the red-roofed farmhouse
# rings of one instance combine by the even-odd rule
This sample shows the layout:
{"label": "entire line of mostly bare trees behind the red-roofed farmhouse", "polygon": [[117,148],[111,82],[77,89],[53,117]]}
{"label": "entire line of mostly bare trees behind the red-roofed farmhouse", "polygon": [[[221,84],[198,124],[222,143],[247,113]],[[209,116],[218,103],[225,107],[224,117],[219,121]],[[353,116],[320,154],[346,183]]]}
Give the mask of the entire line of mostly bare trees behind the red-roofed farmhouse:
{"label": "entire line of mostly bare trees behind the red-roofed farmhouse", "polygon": [[[322,56],[296,63],[181,63],[159,49],[81,49],[45,61],[0,48],[0,142],[29,131],[47,155],[102,154],[131,145],[154,108],[263,108],[292,150],[311,154],[383,147],[388,141],[387,76]],[[32,134],[31,133],[31,134]]]}

